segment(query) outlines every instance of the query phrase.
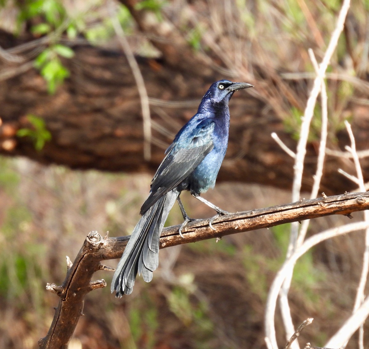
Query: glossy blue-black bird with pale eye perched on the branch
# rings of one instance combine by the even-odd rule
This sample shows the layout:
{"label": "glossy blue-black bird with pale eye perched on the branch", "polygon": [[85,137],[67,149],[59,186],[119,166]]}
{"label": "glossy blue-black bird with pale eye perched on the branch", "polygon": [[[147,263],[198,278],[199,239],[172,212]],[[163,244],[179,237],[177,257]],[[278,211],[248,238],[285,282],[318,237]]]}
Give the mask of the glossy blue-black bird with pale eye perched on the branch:
{"label": "glossy blue-black bird with pale eye perched on the branch", "polygon": [[[184,211],[179,194],[183,190],[207,204],[217,215],[227,214],[200,196],[214,188],[228,145],[230,112],[228,102],[237,90],[254,87],[244,82],[220,80],[204,95],[197,113],[177,133],[151,182],[150,195],[141,207],[141,219],[134,228],[115,270],[111,293],[116,297],[131,294],[137,272],[152,280],[159,264],[159,237],[170,209],[179,203],[184,222],[192,221]],[[210,226],[211,226],[210,220]]]}

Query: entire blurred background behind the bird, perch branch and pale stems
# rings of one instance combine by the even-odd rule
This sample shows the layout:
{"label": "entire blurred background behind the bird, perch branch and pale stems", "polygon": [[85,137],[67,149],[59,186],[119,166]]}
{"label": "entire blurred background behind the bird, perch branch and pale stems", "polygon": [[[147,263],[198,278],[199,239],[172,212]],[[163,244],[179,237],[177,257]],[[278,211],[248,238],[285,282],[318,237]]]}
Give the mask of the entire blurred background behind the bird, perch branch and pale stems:
{"label": "entire blurred background behind the bird, perch branch and pale stems", "polygon": [[[228,78],[255,89],[230,102],[230,145],[218,183],[204,197],[230,212],[291,201],[293,159],[270,134],[296,149],[314,78],[307,49],[321,60],[340,2],[0,5],[0,348],[37,348],[58,304],[45,285],[62,284],[65,256],[74,260],[88,232],[131,234],[163,152],[212,82]],[[337,172],[353,173],[342,153],[344,120],[358,149],[368,148],[368,9],[368,1],[352,1],[327,74],[329,151],[321,191],[328,195],[356,189]],[[149,118],[142,116],[145,103]],[[318,105],[303,177],[306,197],[320,113]],[[365,158],[362,166],[368,181]],[[190,217],[213,215],[188,193],[182,197]],[[353,216],[362,219],[361,212]],[[319,218],[308,235],[347,222]],[[180,223],[175,206],[166,225]],[[153,281],[138,278],[131,296],[117,300],[109,287],[88,294],[69,347],[265,347],[266,297],[289,230],[281,225],[161,250]],[[293,320],[298,326],[314,318],[301,345],[323,346],[351,314],[363,241],[362,233],[328,240],[297,263],[289,295]],[[108,284],[111,277],[96,273]],[[284,345],[279,316],[277,338]],[[354,336],[349,348],[357,347]]]}

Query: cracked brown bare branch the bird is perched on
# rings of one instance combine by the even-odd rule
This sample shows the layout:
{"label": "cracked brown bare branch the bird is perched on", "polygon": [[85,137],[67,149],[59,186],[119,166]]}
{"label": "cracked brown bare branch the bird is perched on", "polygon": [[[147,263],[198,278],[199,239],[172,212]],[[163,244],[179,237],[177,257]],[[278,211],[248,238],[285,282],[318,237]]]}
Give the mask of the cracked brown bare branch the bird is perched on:
{"label": "cracked brown bare branch the bird is perched on", "polygon": [[[367,209],[369,209],[369,193],[352,193],[314,200],[301,200],[297,203],[219,217],[212,224],[215,231],[209,227],[208,220],[190,222],[182,231],[183,238],[179,236],[179,225],[165,228],[161,234],[160,248],[273,227],[309,218],[332,214],[347,215],[351,212]],[[358,227],[358,225],[349,225],[349,227]],[[101,269],[100,261],[120,258],[128,239],[129,236],[119,238],[105,236],[103,238],[94,231],[87,235],[72,267],[67,271],[66,279],[60,289],[59,305],[55,310],[48,334],[39,341],[40,348],[66,349],[68,347],[69,339],[82,314],[85,295],[92,288],[103,287],[103,280],[91,284],[94,272]]]}

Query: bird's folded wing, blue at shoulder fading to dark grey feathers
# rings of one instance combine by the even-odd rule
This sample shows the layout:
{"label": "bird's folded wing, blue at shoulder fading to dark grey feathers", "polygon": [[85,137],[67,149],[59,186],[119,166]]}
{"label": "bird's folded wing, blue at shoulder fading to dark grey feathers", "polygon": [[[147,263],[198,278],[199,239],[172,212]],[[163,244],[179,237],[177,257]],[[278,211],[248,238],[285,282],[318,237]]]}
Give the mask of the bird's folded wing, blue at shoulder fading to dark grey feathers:
{"label": "bird's folded wing, blue at shoulder fading to dark grey feathers", "polygon": [[168,191],[177,187],[214,148],[211,137],[215,122],[199,121],[181,133],[166,151],[166,156],[151,182],[151,194],[141,207],[141,214]]}

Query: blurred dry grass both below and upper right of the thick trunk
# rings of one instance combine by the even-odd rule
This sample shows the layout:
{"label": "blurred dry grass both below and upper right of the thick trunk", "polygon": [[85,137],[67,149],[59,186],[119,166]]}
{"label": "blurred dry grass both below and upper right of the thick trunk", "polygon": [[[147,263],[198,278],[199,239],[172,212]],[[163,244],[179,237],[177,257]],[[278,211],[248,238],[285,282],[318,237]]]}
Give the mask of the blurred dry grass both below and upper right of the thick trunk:
{"label": "blurred dry grass both below and upper right of the thick trunk", "polygon": [[[79,2],[68,3],[71,13],[73,3]],[[99,15],[89,17],[87,28],[103,22],[103,5],[89,5]],[[328,0],[173,1],[162,10],[163,20],[175,24],[220,73],[257,82],[252,93],[296,134],[314,71],[307,49],[321,60],[338,5]],[[353,105],[367,103],[368,86],[361,80],[368,65],[366,7],[361,1],[352,4],[332,59],[327,82],[331,141]],[[311,139],[320,134],[316,114]],[[65,255],[73,260],[89,231],[130,234],[151,176],[72,172],[25,159],[1,159],[0,166],[0,348],[34,348],[57,303],[46,293],[46,282],[62,282]],[[193,217],[213,214],[184,196]],[[220,184],[206,197],[228,211],[290,201],[290,193],[242,184]],[[354,219],[361,217],[357,213]],[[308,235],[347,220],[314,220]],[[180,222],[175,208],[168,224]],[[281,226],[161,251],[152,283],[138,279],[130,297],[116,300],[108,289],[89,295],[70,348],[264,347],[266,297],[283,263],[289,230]],[[321,243],[297,264],[289,293],[293,321],[314,317],[301,343],[324,345],[351,314],[361,274],[361,235]],[[96,275],[102,277],[109,281],[111,276]],[[276,330],[283,342],[278,315]],[[356,338],[349,342],[350,348],[357,346]]]}

